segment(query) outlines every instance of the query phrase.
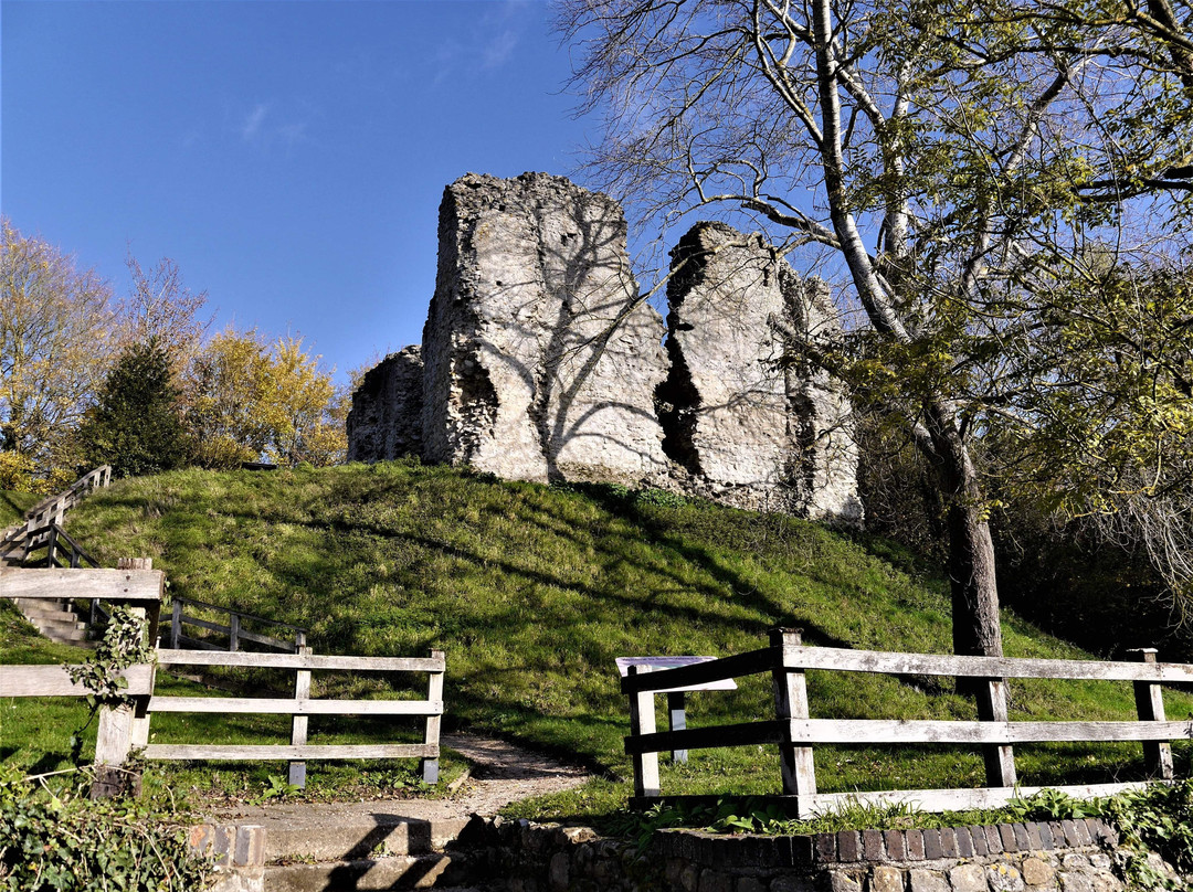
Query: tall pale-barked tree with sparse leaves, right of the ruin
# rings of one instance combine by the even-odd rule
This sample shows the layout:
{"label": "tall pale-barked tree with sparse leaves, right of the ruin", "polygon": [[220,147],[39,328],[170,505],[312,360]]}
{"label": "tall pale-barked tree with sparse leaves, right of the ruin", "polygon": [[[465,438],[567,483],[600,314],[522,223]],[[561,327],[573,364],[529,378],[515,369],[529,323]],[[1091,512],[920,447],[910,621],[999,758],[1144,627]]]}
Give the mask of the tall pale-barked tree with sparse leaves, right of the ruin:
{"label": "tall pale-barked tree with sparse leaves, right of the ruin", "polygon": [[[561,12],[586,107],[605,114],[598,185],[663,227],[696,210],[746,215],[818,258],[860,310],[836,348],[801,347],[858,403],[895,413],[932,469],[958,653],[1002,646],[990,476],[1045,479],[1043,464],[985,448],[990,433],[1014,430],[1063,487],[1080,448],[1057,436],[1065,420],[1092,445],[1109,401],[1117,439],[1139,445],[1160,415],[1179,427],[1172,413],[1188,411],[1166,396],[1157,415],[1145,373],[1098,367],[1112,342],[1138,341],[1138,316],[1068,309],[1077,296],[1113,304],[1105,270],[1142,267],[1170,236],[1149,224],[1186,219],[1186,193],[1166,185],[1193,145],[1183,69],[1170,42],[1156,52],[1172,63],[1154,64],[1156,32],[1137,18],[1090,27],[1046,12],[1009,0],[568,0]],[[1119,37],[1138,51],[1115,55]],[[1033,436],[1045,420],[1052,435]]]}

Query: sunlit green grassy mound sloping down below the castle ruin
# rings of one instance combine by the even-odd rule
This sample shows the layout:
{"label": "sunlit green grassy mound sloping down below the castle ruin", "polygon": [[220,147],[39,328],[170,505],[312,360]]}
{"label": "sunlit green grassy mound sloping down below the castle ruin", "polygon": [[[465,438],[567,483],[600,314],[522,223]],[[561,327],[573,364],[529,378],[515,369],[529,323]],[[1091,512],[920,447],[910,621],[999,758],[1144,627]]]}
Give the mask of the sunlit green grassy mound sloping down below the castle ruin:
{"label": "sunlit green grassy mound sloping down below the castle ruin", "polygon": [[[818,645],[950,645],[941,581],[883,543],[601,488],[505,483],[409,463],[186,471],[117,483],[78,508],[69,528],[105,563],[154,557],[180,595],[309,626],[316,652],[443,648],[449,726],[573,754],[611,776],[628,773],[617,656],[727,655],[761,646],[774,625],[799,626]],[[1013,617],[1005,637],[1012,656],[1078,656]],[[0,659],[13,662],[2,644]],[[734,695],[694,695],[690,720],[764,718],[768,685],[744,680]],[[972,704],[931,680],[811,673],[809,689],[814,717],[973,716]],[[1125,685],[1024,682],[1013,698],[1020,717],[1133,717]],[[1173,698],[1169,712],[1187,706]],[[154,727],[180,739],[178,724],[155,719]],[[242,732],[251,735],[223,731],[249,739]],[[1074,757],[1058,760],[1056,748],[1020,748],[1020,775],[1025,783],[1129,776],[1138,770],[1136,749],[1070,748]],[[979,756],[957,749],[824,748],[817,773],[823,791],[982,782]],[[687,767],[665,768],[663,789],[778,792],[777,757],[697,752]],[[605,792],[588,807],[607,806],[625,788]]]}

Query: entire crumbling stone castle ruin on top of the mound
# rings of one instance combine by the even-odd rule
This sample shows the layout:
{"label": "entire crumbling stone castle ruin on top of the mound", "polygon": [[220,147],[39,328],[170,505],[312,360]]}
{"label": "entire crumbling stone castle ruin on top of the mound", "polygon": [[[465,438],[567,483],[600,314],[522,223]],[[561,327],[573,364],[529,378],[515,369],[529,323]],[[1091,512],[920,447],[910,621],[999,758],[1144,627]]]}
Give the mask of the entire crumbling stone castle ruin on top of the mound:
{"label": "entire crumbling stone castle ruin on top of the mound", "polygon": [[719,223],[684,236],[672,271],[665,324],[611,198],[548,174],[460,178],[439,209],[422,345],[364,376],[348,460],[413,454],[859,524],[848,402],[780,334],[837,332],[823,283]]}

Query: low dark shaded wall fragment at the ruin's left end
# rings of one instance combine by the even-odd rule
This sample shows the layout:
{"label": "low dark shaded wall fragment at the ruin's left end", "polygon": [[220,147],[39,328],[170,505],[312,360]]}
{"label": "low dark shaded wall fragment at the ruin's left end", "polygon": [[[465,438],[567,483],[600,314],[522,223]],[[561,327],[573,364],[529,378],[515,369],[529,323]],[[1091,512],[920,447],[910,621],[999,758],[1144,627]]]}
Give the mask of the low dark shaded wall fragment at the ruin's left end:
{"label": "low dark shaded wall fragment at the ruin's left end", "polygon": [[422,357],[418,345],[365,372],[347,417],[348,462],[422,453]]}

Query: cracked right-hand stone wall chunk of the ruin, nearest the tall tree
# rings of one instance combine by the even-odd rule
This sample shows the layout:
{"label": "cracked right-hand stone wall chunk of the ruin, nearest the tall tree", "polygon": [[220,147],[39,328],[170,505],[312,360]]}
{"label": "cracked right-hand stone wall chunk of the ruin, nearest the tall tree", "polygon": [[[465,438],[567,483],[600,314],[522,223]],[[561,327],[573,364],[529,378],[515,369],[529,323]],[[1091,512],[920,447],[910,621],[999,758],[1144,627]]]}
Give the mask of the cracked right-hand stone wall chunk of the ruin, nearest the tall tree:
{"label": "cracked right-hand stone wall chunk of the ruin, nearest the tall tree", "polygon": [[667,298],[663,448],[693,488],[742,508],[860,521],[848,401],[792,355],[792,334],[837,333],[823,283],[802,280],[760,236],[698,223],[672,252]]}

